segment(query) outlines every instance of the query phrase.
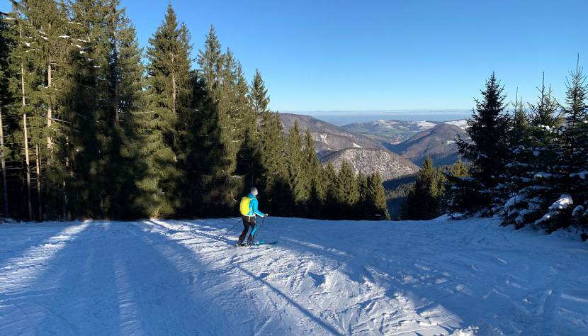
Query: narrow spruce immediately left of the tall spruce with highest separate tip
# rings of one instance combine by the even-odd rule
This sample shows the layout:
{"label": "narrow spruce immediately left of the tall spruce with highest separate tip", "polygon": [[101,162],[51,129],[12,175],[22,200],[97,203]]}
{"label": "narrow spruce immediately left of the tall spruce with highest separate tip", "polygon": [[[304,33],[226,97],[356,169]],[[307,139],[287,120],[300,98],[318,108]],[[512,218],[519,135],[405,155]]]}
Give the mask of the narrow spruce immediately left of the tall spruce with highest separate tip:
{"label": "narrow spruce immediately left of the tall spruce with highest separate tip", "polygon": [[145,218],[157,213],[161,190],[152,169],[154,140],[152,112],[147,108],[145,68],[135,28],[120,11],[115,31],[115,125],[120,137],[120,169],[113,186],[113,218]]}

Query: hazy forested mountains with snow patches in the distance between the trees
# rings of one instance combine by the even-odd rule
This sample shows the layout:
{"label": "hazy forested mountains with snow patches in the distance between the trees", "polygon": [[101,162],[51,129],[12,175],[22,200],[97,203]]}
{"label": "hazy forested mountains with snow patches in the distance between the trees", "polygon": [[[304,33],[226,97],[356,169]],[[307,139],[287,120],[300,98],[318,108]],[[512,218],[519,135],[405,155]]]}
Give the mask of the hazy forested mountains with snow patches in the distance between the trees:
{"label": "hazy forested mountains with snow patches in the distance between the trees", "polygon": [[333,125],[312,116],[280,113],[285,131],[298,121],[300,131],[310,130],[321,161],[336,169],[343,160],[356,173],[379,172],[384,181],[410,177],[431,156],[436,165],[458,158],[456,136],[467,137],[465,121],[396,121]]}

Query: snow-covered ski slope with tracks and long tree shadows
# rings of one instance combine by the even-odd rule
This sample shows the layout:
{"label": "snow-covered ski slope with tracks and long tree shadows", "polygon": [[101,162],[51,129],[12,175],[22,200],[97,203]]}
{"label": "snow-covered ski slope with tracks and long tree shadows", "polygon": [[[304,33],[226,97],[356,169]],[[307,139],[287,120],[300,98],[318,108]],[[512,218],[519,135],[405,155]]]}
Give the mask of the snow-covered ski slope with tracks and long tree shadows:
{"label": "snow-covered ski slope with tracks and long tree shadows", "polygon": [[588,335],[588,244],[496,219],[0,225],[0,335]]}

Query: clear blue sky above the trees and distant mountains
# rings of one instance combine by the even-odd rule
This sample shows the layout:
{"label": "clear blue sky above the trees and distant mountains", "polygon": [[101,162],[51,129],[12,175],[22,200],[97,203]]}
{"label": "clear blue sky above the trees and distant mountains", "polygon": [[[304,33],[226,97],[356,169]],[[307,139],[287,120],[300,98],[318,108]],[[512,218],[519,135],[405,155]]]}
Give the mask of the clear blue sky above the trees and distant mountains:
{"label": "clear blue sky above the trees and distant mountains", "polygon": [[[121,2],[146,45],[168,1]],[[193,57],[214,24],[280,111],[471,108],[492,71],[534,101],[541,72],[562,97],[577,52],[588,68],[587,0],[171,3]]]}

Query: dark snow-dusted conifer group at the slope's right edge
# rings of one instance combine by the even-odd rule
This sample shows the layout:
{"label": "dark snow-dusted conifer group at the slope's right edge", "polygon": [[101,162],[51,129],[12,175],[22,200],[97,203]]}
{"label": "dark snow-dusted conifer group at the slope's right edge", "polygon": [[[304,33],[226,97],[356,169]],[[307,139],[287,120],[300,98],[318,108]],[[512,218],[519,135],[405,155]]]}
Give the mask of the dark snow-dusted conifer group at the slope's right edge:
{"label": "dark snow-dusted conifer group at the slope's right edge", "polygon": [[499,215],[503,225],[517,229],[575,228],[587,239],[588,83],[579,62],[565,85],[561,103],[544,80],[535,103],[525,104],[518,94],[507,103],[492,74],[468,119],[470,139],[457,139],[468,164],[443,173],[427,159],[404,218]]}

